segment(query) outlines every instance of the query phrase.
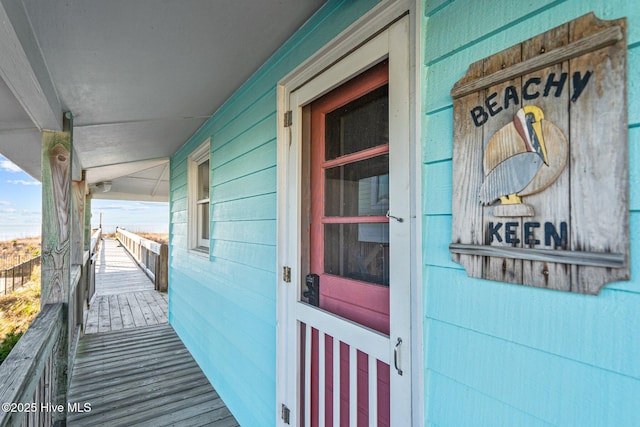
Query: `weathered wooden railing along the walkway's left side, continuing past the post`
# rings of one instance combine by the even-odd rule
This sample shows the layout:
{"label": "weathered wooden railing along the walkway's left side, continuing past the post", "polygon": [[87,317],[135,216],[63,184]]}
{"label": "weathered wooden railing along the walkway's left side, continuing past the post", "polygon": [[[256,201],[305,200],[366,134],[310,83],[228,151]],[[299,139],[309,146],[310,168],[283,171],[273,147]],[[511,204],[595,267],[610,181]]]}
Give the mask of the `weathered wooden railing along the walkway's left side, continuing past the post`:
{"label": "weathered wooden railing along the walkway's left side, continuing past the post", "polygon": [[91,237],[82,265],[71,269],[69,303],[46,304],[0,365],[0,427],[64,424],[67,384],[85,310],[95,292],[95,254],[101,230]]}

